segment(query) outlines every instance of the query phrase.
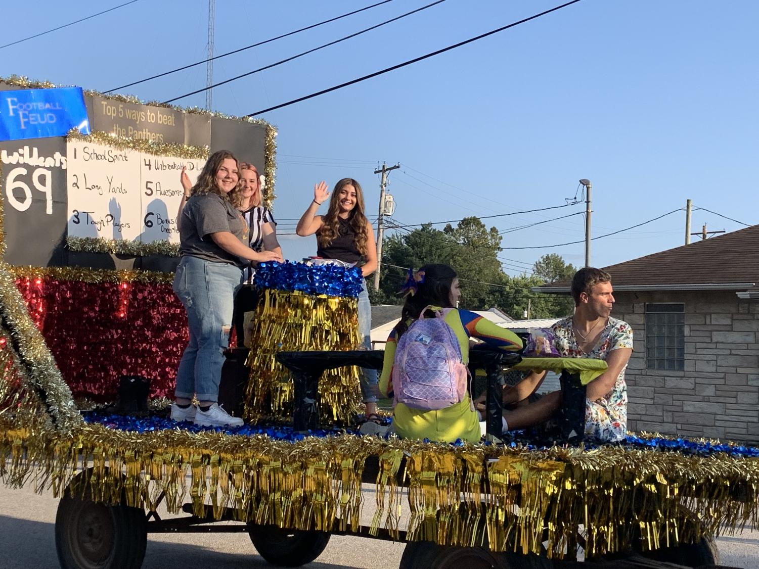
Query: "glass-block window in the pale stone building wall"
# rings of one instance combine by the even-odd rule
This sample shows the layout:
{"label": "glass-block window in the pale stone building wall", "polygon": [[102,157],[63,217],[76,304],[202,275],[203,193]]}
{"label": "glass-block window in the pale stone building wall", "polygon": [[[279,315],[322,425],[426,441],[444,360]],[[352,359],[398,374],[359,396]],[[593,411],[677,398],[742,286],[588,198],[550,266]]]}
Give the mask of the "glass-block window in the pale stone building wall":
{"label": "glass-block window in the pale stone building wall", "polygon": [[685,369],[685,304],[646,304],[646,366]]}

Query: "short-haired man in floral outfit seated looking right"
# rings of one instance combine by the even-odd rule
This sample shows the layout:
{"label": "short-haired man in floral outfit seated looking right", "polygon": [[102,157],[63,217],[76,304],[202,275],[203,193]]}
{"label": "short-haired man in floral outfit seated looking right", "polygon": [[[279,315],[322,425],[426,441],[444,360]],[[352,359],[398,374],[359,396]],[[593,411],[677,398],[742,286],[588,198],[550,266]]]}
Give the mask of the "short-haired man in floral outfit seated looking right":
{"label": "short-haired man in floral outfit seated looking right", "polygon": [[611,275],[585,267],[572,278],[575,314],[553,325],[554,344],[562,357],[605,360],[609,369],[587,384],[585,434],[619,441],[627,430],[625,368],[632,354],[632,329],[612,318]]}

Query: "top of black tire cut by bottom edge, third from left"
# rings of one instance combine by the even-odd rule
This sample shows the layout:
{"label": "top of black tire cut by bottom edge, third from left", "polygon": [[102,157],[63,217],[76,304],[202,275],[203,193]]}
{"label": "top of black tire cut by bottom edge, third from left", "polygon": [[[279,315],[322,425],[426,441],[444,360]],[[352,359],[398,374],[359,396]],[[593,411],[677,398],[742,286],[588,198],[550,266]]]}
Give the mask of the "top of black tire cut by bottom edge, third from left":
{"label": "top of black tire cut by bottom edge, third from left", "polygon": [[505,559],[482,547],[408,542],[399,569],[506,569]]}

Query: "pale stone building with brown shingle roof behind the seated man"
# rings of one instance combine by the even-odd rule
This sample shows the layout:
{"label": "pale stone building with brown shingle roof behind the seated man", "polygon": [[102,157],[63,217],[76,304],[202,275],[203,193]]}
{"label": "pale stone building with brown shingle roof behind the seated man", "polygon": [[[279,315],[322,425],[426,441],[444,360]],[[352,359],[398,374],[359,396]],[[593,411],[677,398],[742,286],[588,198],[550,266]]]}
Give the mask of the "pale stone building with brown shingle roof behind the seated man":
{"label": "pale stone building with brown shingle roof behind the seated man", "polygon": [[759,443],[759,225],[604,270],[635,332],[628,428]]}

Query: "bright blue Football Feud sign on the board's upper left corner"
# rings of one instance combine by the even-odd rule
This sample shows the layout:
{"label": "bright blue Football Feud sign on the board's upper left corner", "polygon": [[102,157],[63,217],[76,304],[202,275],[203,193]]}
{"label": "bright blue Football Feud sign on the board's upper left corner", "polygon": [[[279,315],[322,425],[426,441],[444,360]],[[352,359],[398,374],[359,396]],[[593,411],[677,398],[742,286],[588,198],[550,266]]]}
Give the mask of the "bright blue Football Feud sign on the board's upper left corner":
{"label": "bright blue Football Feud sign on the board's upper left corner", "polygon": [[81,87],[0,91],[0,140],[90,134]]}

